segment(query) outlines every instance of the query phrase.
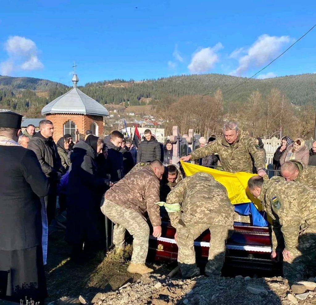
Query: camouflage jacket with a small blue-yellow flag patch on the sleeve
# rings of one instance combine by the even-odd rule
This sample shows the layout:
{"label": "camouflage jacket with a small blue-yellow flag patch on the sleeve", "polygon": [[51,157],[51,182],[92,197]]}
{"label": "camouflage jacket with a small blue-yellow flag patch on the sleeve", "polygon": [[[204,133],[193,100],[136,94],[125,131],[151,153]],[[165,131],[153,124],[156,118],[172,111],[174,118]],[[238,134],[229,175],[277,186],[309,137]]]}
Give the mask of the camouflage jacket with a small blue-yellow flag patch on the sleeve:
{"label": "camouflage jacket with a small blue-yellow flag patch on the sleeve", "polygon": [[273,220],[273,250],[280,243],[280,232],[290,251],[297,246],[302,230],[316,226],[316,191],[301,183],[274,176],[264,181],[258,199]]}

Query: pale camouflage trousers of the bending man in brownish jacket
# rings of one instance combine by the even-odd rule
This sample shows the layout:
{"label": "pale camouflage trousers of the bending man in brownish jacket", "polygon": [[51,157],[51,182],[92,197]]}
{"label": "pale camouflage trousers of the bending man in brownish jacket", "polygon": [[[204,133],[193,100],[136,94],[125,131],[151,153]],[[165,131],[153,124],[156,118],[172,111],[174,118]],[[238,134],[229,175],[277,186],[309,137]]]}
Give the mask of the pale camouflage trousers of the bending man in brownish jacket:
{"label": "pale camouflage trousers of the bending man in brownish jacket", "polygon": [[113,243],[123,247],[125,230],[133,235],[133,254],[131,263],[144,264],[148,253],[149,226],[143,215],[135,210],[126,209],[109,200],[104,200],[101,206],[103,214],[113,223]]}

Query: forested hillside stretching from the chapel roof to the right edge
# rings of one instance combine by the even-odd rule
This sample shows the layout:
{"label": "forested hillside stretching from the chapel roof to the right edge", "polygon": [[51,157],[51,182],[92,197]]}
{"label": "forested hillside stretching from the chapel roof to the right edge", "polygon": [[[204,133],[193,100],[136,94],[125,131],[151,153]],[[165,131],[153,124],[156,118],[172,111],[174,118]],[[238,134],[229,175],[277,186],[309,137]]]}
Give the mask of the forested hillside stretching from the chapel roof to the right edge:
{"label": "forested hillside stretching from the chapel roof to the right edge", "polygon": [[[80,87],[89,96],[101,104],[119,104],[130,101],[139,105],[141,97],[159,100],[163,95],[205,94],[221,89],[222,92],[245,81],[246,78],[222,74],[182,75],[147,80],[126,82],[124,80],[87,83]],[[266,96],[272,88],[278,88],[296,105],[305,105],[316,101],[316,74],[300,74],[267,79],[251,79],[238,88],[224,94],[224,103],[246,101],[254,90]]]}

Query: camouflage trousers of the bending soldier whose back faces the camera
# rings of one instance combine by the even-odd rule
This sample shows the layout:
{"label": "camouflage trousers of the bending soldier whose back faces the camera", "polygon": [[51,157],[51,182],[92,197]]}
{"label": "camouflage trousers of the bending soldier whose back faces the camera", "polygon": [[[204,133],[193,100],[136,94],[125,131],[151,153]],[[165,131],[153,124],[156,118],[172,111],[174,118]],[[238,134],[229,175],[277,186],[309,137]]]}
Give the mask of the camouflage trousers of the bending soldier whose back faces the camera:
{"label": "camouflage trousers of the bending soldier whose back faces the camera", "polygon": [[178,263],[184,277],[199,274],[195,261],[194,240],[207,229],[210,229],[211,239],[205,273],[207,275],[221,274],[226,252],[225,241],[232,234],[233,226],[190,224],[186,227],[177,227]]}

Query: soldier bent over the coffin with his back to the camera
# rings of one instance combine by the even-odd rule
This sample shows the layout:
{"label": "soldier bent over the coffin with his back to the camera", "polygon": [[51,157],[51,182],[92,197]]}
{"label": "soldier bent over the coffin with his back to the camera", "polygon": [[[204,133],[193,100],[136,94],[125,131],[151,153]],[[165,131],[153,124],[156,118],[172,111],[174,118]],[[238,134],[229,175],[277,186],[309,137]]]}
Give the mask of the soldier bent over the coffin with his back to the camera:
{"label": "soldier bent over the coffin with his back to the camera", "polygon": [[167,204],[180,204],[179,212],[168,212],[176,228],[178,263],[184,277],[200,273],[195,262],[194,240],[210,229],[210,250],[205,267],[207,275],[220,275],[225,257],[225,240],[233,232],[234,206],[226,188],[210,174],[186,177],[167,196]]}

